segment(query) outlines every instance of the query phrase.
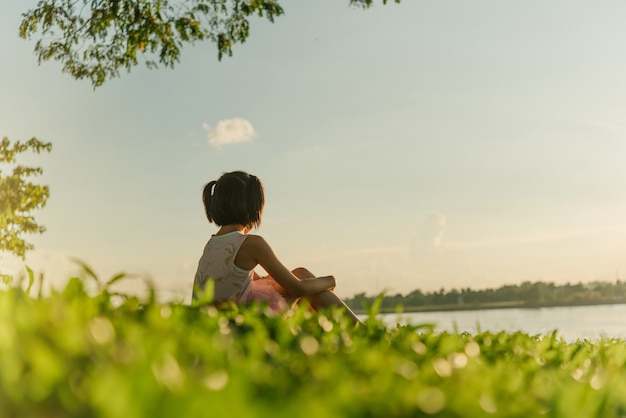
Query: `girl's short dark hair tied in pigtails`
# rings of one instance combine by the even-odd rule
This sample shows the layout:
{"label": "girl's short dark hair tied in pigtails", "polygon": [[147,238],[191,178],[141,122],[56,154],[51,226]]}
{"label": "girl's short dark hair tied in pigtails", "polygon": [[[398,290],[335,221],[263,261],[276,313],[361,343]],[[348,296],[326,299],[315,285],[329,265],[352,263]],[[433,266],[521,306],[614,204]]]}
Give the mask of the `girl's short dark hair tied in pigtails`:
{"label": "girl's short dark hair tied in pigtails", "polygon": [[265,193],[257,176],[243,171],[224,173],[204,186],[204,210],[209,222],[218,226],[241,224],[248,228],[261,225]]}

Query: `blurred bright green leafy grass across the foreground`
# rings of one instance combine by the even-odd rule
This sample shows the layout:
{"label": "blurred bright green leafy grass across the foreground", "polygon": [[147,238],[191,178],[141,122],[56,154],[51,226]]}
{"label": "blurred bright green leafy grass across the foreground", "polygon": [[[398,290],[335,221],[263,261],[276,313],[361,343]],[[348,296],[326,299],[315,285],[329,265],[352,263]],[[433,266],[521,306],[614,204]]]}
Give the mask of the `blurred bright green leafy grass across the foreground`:
{"label": "blurred bright green leafy grass across the foreground", "polygon": [[624,340],[390,329],[376,306],[354,328],[115,294],[121,278],[5,280],[1,417],[626,416]]}

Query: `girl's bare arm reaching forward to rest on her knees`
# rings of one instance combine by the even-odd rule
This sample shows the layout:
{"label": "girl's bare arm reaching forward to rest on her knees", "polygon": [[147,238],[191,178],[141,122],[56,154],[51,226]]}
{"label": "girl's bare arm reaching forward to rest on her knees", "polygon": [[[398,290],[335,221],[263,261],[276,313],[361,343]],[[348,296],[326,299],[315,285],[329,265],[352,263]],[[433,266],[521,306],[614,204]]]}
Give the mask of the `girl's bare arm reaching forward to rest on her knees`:
{"label": "girl's bare arm reaching forward to rest on her knees", "polygon": [[272,251],[269,244],[258,235],[250,235],[239,249],[237,256],[245,264],[246,261],[260,264],[289,294],[300,297],[314,295],[336,286],[333,276],[316,277],[300,280],[285,267]]}

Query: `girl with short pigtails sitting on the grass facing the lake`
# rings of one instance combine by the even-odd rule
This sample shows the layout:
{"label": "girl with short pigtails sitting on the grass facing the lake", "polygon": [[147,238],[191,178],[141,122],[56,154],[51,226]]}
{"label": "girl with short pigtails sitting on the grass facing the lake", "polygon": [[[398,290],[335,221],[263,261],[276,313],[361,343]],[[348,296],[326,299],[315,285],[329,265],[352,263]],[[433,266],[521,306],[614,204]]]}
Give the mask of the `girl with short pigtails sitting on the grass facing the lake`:
{"label": "girl with short pigtails sitting on the grass facing the lake", "polygon": [[[193,299],[197,300],[209,280],[214,284],[213,302],[267,302],[281,311],[305,298],[313,309],[338,306],[355,322],[350,308],[332,290],[333,276],[316,277],[305,268],[289,271],[258,235],[248,234],[261,224],[265,194],[261,181],[242,171],[223,174],[204,186],[202,195],[209,222],[220,229],[204,247],[194,279]],[[254,268],[261,265],[269,274],[261,277]]]}

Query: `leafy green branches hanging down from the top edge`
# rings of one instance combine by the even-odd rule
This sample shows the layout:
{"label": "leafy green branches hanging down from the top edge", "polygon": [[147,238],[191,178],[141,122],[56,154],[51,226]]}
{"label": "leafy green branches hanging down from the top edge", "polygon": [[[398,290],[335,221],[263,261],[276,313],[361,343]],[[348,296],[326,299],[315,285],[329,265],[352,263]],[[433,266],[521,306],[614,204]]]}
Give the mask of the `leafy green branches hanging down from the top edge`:
{"label": "leafy green branches hanging down from the top edge", "polygon": [[[369,8],[373,0],[349,4]],[[187,43],[210,40],[218,59],[232,55],[250,35],[251,16],[273,22],[284,13],[277,0],[40,0],[23,14],[19,33],[39,37],[39,63],[59,61],[63,72],[96,88],[130,71],[138,56],[148,68],[173,67]]]}

